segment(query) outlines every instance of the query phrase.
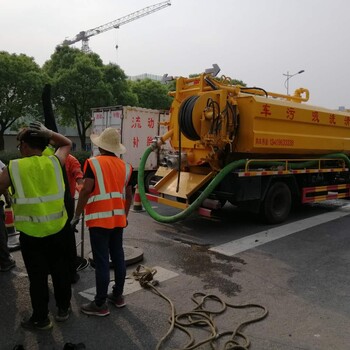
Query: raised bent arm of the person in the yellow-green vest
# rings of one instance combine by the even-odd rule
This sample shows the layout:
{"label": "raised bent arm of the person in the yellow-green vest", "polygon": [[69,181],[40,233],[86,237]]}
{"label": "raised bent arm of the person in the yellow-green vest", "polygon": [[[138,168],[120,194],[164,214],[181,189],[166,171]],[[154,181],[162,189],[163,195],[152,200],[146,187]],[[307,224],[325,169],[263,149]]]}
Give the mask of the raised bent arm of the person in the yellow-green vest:
{"label": "raised bent arm of the person in the yellow-green vest", "polygon": [[30,123],[29,129],[33,132],[33,135],[48,138],[50,143],[55,144],[55,155],[63,166],[72,148],[72,141],[63,135],[46,128],[40,122]]}

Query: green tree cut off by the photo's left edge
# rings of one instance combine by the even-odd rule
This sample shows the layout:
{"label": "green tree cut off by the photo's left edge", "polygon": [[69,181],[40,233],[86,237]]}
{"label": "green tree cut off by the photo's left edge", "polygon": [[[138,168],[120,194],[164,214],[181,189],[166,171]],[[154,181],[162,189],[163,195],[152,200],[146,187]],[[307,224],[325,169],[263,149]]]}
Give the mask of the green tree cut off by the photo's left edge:
{"label": "green tree cut off by the photo's left edge", "polygon": [[0,150],[4,132],[22,119],[37,118],[42,111],[44,77],[32,57],[0,52]]}

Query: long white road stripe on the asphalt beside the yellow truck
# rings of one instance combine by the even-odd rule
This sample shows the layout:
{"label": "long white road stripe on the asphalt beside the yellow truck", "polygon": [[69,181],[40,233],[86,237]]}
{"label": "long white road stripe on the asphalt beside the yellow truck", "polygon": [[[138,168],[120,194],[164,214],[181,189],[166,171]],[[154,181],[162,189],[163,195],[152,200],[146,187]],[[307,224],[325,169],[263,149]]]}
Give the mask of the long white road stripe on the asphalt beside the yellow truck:
{"label": "long white road stripe on the asphalt beside the yellow truck", "polygon": [[310,227],[324,224],[328,221],[339,219],[349,214],[350,204],[347,204],[332,212],[292,222],[290,224],[272,228],[266,231],[261,231],[247,237],[212,247],[209,250],[226,256],[233,256],[244,252],[245,250],[258,247],[259,245],[306,230]]}

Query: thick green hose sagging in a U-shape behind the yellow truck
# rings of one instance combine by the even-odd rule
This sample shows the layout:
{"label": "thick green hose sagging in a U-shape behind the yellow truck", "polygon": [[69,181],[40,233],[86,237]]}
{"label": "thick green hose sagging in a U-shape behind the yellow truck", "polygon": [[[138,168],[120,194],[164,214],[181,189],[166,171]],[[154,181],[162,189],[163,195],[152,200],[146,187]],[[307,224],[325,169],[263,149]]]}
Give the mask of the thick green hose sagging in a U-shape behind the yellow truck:
{"label": "thick green hose sagging in a U-shape behind the yellow truck", "polygon": [[237,160],[235,162],[232,162],[225,166],[215,177],[214,179],[209,183],[209,185],[206,187],[206,189],[201,193],[201,195],[185,210],[181,211],[178,214],[172,215],[172,216],[164,216],[158,214],[151,206],[149,201],[146,197],[145,192],[145,184],[144,184],[144,176],[145,176],[145,164],[149,157],[149,155],[152,153],[153,147],[150,146],[146,149],[145,153],[143,154],[138,170],[138,190],[140,193],[140,199],[142,202],[142,205],[146,209],[147,213],[156,221],[164,222],[164,223],[173,223],[180,220],[185,219],[190,214],[192,214],[196,209],[199,208],[199,206],[202,204],[205,198],[207,198],[211,192],[214,191],[215,187],[222,181],[222,179],[229,174],[232,170],[242,167],[245,165],[245,160]]}

